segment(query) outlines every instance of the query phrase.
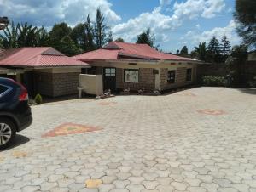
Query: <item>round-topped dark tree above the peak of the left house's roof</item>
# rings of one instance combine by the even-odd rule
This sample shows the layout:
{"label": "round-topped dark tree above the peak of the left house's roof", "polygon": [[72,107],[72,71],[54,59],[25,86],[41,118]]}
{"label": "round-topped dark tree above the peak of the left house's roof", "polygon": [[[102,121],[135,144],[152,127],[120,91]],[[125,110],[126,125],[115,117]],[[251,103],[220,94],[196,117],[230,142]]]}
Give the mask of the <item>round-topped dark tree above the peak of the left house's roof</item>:
{"label": "round-topped dark tree above the peak of the left house's roof", "polygon": [[70,36],[71,31],[72,29],[67,25],[67,23],[62,22],[55,24],[52,30],[49,31],[50,45],[54,48],[57,48],[59,42],[61,42],[61,39],[66,36]]}

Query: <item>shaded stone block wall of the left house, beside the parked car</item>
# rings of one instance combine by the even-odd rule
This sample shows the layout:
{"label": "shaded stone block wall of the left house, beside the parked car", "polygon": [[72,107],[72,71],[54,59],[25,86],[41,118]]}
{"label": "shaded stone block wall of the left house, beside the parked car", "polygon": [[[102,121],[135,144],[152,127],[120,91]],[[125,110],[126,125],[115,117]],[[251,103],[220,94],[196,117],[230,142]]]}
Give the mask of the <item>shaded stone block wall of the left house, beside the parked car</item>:
{"label": "shaded stone block wall of the left house, beside the parked car", "polygon": [[37,93],[58,97],[78,93],[79,73],[46,73],[36,72]]}

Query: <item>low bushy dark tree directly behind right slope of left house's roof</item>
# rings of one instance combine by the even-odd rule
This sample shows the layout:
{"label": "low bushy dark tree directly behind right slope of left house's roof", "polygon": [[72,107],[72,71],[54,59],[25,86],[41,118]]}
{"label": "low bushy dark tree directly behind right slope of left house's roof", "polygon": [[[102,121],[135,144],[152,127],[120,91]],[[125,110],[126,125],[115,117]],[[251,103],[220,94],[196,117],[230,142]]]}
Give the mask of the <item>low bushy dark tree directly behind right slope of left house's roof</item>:
{"label": "low bushy dark tree directly behind right slope of left house's roof", "polygon": [[71,37],[65,36],[58,43],[57,50],[59,50],[62,54],[66,54],[67,56],[73,56],[75,54],[81,54],[82,50],[76,46]]}

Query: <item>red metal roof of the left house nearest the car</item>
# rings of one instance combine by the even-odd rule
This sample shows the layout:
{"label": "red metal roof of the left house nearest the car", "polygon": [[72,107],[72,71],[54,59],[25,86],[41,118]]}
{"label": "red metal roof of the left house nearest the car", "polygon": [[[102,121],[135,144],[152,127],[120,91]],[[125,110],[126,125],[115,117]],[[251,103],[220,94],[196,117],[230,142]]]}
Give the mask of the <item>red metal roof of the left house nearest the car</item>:
{"label": "red metal roof of the left house nearest the car", "polygon": [[67,57],[54,48],[13,48],[0,52],[0,65],[17,66],[75,66],[88,65],[77,59]]}

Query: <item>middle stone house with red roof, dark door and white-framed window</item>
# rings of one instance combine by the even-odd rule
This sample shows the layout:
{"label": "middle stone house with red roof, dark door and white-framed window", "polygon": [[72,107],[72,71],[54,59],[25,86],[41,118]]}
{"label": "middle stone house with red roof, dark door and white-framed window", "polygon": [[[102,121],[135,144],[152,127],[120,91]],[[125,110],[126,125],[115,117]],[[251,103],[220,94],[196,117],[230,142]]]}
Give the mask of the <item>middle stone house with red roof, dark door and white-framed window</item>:
{"label": "middle stone house with red roof, dark door and white-framed window", "polygon": [[110,42],[96,51],[73,57],[89,63],[87,74],[102,75],[103,89],[121,91],[130,88],[167,90],[196,82],[196,68],[201,61],[164,54],[146,44]]}

